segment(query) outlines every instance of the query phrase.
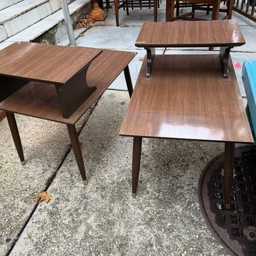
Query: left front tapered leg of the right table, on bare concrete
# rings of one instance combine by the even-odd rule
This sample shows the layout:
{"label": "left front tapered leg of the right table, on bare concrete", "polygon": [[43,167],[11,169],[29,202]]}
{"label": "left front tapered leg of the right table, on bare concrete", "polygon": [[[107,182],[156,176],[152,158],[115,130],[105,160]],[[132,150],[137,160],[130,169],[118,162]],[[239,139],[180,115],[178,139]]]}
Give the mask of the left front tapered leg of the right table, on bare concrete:
{"label": "left front tapered leg of the right table, on bare concrete", "polygon": [[141,143],[142,137],[133,138],[132,149],[132,197],[137,195],[137,186],[139,180],[139,169],[141,165]]}

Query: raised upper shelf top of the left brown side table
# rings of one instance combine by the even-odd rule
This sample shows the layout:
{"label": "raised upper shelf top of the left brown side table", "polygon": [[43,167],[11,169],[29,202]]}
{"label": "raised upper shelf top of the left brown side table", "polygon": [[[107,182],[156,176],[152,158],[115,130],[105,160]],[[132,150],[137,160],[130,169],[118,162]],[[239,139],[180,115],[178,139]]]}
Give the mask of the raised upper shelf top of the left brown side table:
{"label": "raised upper shelf top of the left brown side table", "polygon": [[101,49],[16,42],[0,51],[0,75],[63,85]]}

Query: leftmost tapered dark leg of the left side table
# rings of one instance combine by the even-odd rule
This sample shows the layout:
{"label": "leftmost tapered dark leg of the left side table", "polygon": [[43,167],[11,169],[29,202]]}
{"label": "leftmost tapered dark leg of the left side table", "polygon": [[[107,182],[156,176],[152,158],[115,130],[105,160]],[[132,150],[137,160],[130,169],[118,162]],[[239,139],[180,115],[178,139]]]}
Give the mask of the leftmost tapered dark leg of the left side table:
{"label": "leftmost tapered dark leg of the left side table", "polygon": [[25,165],[23,146],[21,145],[20,134],[18,133],[18,126],[16,123],[16,119],[14,117],[14,113],[6,112],[5,115],[8,120],[8,124],[9,124],[10,130],[11,130],[11,133],[12,133],[12,139],[14,140],[14,145],[18,152],[18,156],[20,158],[21,165]]}

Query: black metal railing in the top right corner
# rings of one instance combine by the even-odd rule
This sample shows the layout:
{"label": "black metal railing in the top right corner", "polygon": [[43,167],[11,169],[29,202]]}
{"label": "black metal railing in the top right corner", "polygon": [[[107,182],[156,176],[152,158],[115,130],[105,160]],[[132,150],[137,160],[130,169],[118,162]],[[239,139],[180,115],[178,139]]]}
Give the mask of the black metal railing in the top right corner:
{"label": "black metal railing in the top right corner", "polygon": [[256,0],[235,0],[233,10],[256,22]]}

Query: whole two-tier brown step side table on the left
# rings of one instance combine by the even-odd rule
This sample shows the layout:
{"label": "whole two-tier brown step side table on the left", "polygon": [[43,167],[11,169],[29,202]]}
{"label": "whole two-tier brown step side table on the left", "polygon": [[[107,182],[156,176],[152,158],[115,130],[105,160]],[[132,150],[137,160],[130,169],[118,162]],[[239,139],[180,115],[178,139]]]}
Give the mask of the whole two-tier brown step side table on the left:
{"label": "whole two-tier brown step side table on the left", "polygon": [[132,94],[128,63],[134,55],[28,42],[0,51],[0,109],[6,113],[22,164],[25,158],[14,113],[66,124],[79,171],[87,184],[75,124],[122,71]]}

